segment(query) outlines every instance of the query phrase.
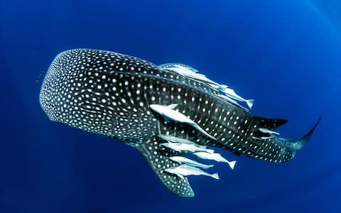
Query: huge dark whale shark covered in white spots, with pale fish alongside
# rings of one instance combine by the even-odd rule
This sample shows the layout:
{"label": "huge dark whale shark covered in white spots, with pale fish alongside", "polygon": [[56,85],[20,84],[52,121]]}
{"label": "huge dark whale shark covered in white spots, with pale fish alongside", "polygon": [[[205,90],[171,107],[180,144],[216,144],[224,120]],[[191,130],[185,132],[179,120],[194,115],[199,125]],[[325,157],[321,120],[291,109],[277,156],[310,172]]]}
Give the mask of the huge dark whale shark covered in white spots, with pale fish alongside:
{"label": "huge dark whale shark covered in white spots, with pale fish alongside", "polygon": [[226,88],[188,65],[154,65],[107,50],[72,49],[51,63],[39,101],[51,121],[136,148],[168,190],[193,197],[188,178],[179,178],[175,169],[183,164],[172,160],[193,153],[162,146],[172,142],[167,138],[286,163],[320,122],[302,138],[281,138],[274,130],[288,120],[251,114],[247,107],[254,99]]}

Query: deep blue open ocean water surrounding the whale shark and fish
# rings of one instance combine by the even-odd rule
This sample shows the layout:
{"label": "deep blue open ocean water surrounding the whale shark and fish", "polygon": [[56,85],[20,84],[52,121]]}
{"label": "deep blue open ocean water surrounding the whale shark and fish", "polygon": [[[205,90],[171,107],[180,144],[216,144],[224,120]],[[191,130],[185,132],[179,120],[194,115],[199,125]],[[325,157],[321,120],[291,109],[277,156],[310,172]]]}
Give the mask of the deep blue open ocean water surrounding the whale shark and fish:
{"label": "deep blue open ocean water surrounding the whale shark and fish", "polygon": [[[0,212],[340,212],[341,5],[338,1],[0,1]],[[236,157],[220,181],[190,177],[176,197],[140,153],[48,120],[41,71],[71,48],[182,62],[289,119],[286,164]]]}

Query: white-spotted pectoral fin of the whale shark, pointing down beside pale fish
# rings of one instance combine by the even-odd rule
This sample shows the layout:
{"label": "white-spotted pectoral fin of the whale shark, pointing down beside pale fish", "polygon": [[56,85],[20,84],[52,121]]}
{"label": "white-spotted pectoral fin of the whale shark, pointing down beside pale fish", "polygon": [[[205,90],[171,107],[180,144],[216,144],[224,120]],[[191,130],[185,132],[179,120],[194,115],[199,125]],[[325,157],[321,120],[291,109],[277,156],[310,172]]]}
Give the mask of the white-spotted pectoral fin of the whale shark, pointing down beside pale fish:
{"label": "white-spotted pectoral fin of the whale shark, pointing down beside pale fish", "polygon": [[168,168],[175,168],[179,163],[170,158],[173,156],[184,156],[184,153],[176,152],[161,146],[162,141],[158,137],[153,137],[146,143],[134,146],[146,158],[149,165],[168,190],[181,197],[194,197],[194,192],[187,178],[179,178],[176,175],[165,173]]}

